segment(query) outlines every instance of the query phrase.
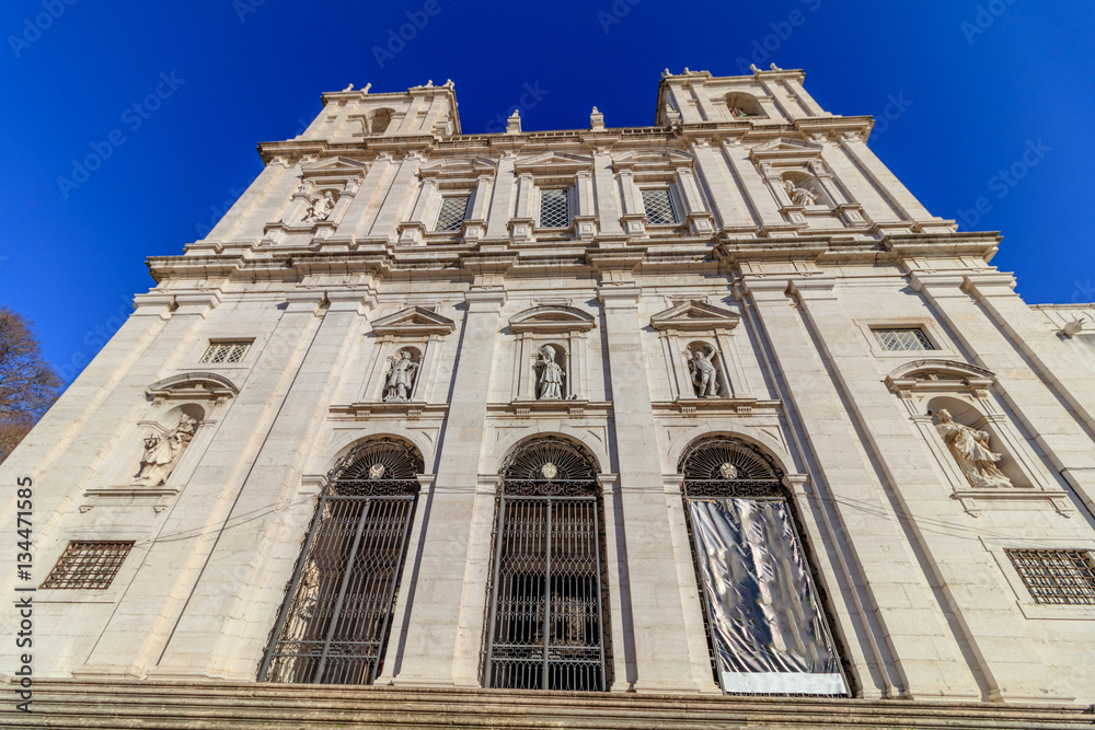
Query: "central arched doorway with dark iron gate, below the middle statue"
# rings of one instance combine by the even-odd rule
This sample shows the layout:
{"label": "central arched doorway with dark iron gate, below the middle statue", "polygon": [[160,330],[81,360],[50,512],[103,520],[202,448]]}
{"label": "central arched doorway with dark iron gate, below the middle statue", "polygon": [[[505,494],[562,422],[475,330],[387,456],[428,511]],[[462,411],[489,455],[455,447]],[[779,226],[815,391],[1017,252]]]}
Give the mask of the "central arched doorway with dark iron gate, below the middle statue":
{"label": "central arched doorway with dark iron gate, below the middle statue", "polygon": [[484,684],[603,691],[601,499],[593,460],[548,437],[506,460]]}

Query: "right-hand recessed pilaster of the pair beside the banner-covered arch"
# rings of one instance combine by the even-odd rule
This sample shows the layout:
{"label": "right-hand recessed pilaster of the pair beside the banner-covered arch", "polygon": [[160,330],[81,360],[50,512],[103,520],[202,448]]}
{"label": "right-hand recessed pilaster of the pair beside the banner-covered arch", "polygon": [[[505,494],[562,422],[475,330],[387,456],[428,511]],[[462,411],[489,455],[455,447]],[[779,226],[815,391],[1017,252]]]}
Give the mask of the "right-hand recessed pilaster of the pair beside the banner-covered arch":
{"label": "right-hand recessed pilaster of the pair beside the banner-covered arch", "polygon": [[[879,381],[858,328],[840,306],[834,281],[799,279],[793,281],[792,288],[814,329],[815,341],[850,403],[849,412],[860,424],[864,445],[881,467],[897,518],[907,524],[948,525],[947,530],[932,531],[930,538],[919,531],[907,534],[917,543],[915,553],[924,556],[922,568],[940,610],[958,618],[955,623],[960,633],[955,638],[959,646],[969,648],[976,669],[988,684],[984,698],[1047,699],[1039,691],[1045,687],[1044,670],[1026,631],[1026,618],[1015,606],[1014,595],[995,579],[999,568],[992,556],[971,548],[978,535],[955,519],[952,487],[938,477],[927,449],[909,448],[917,428],[897,396]],[[953,660],[961,661],[961,656],[956,653]]]}

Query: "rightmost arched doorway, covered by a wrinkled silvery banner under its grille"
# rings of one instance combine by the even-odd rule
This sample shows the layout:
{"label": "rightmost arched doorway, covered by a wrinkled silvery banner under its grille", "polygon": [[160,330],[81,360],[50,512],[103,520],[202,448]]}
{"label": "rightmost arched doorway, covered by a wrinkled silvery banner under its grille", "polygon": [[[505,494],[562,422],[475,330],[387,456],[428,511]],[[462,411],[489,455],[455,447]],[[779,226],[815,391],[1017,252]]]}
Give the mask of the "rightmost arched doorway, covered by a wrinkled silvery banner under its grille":
{"label": "rightmost arched doorway, covered by a wrinkled silvery banner under its grille", "polygon": [[689,448],[679,471],[723,691],[848,694],[772,461],[713,438]]}

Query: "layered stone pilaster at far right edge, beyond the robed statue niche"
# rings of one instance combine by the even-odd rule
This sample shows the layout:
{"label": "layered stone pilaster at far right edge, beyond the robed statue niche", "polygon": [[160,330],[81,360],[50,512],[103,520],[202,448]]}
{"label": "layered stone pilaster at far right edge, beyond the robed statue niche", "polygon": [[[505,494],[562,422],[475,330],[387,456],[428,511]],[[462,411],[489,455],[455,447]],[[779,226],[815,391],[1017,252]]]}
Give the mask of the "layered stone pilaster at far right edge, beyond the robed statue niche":
{"label": "layered stone pilaster at far right edge, beyond the robed statue niche", "polygon": [[1052,335],[1030,322],[1034,314],[1011,291],[1010,276],[989,270],[914,271],[911,279],[973,361],[995,373],[996,392],[1034,434],[1053,467],[1095,512],[1095,453],[1081,426],[1088,425],[1095,413],[1095,397],[1085,383],[1091,381],[1087,369],[1077,363],[1068,372],[1068,359],[1059,357],[1061,344],[1047,341]]}

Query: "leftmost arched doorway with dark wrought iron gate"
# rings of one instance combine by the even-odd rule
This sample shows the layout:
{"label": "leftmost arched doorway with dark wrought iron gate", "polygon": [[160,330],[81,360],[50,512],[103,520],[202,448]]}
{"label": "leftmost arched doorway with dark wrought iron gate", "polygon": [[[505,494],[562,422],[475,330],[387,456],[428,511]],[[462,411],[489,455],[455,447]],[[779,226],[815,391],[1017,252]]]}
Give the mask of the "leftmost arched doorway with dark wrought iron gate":
{"label": "leftmost arched doorway with dark wrought iron gate", "polygon": [[331,472],[260,681],[370,684],[380,673],[418,497],[422,456],[367,442]]}

